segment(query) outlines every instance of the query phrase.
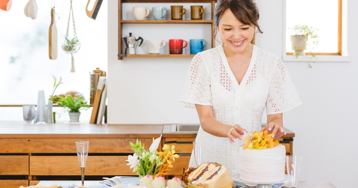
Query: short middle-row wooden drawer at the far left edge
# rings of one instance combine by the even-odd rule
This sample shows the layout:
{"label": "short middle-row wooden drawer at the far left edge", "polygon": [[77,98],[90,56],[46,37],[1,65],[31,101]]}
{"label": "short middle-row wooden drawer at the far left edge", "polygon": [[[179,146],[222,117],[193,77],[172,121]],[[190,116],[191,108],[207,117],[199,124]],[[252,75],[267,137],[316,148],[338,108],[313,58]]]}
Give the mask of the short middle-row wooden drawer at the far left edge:
{"label": "short middle-row wooden drawer at the far left edge", "polygon": [[28,175],[28,174],[29,174],[28,155],[0,155],[0,175]]}

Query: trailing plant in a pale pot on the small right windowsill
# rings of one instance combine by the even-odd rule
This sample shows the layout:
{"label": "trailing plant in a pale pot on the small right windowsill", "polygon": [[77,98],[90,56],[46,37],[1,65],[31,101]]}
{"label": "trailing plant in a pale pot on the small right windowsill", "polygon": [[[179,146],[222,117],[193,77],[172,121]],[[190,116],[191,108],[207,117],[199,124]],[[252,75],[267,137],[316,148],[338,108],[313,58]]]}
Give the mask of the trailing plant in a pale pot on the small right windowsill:
{"label": "trailing plant in a pale pot on the small right windowsill", "polygon": [[[292,50],[295,50],[295,56],[304,56],[304,50],[307,49],[307,40],[310,37],[313,39],[313,45],[317,45],[319,40],[317,34],[315,34],[316,30],[313,27],[308,25],[295,25],[293,28],[294,35],[291,35],[292,42]],[[313,48],[313,46],[312,46]],[[314,55],[313,55],[314,57]]]}

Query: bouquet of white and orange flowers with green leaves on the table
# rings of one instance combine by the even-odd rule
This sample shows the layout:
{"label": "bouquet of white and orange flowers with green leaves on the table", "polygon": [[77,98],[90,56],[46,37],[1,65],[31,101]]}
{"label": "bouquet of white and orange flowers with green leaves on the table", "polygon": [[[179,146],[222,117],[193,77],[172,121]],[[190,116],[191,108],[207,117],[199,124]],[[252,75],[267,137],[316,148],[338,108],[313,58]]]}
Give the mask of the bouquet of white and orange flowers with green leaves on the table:
{"label": "bouquet of white and orange flowers with green leaves on the table", "polygon": [[160,177],[167,175],[168,171],[173,167],[175,158],[179,155],[175,154],[175,146],[169,146],[164,144],[162,151],[156,151],[159,147],[161,136],[157,139],[153,138],[153,143],[149,147],[149,150],[144,149],[141,141],[136,141],[136,144],[130,142],[133,155],[128,155],[127,165],[133,168],[132,172],[136,172],[138,175],[153,175],[153,177]]}

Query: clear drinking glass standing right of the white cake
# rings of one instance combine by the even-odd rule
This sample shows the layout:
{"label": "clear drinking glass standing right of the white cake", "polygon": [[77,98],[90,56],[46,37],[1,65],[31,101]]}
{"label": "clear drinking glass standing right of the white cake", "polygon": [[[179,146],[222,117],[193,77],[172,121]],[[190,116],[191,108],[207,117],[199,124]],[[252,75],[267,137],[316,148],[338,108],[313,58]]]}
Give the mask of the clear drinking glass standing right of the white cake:
{"label": "clear drinking glass standing right of the white cake", "polygon": [[290,178],[290,186],[297,187],[298,178],[301,170],[302,157],[300,156],[286,156],[287,175]]}

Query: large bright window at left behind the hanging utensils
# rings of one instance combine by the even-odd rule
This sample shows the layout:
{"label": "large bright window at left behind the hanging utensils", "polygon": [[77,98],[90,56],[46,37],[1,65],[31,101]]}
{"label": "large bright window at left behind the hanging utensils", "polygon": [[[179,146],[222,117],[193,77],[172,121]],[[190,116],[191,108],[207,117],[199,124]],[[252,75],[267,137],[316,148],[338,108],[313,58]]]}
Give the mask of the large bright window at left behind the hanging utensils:
{"label": "large bright window at left behind the hanging utensils", "polygon": [[[55,60],[49,59],[48,52],[51,1],[38,2],[35,20],[24,15],[26,2],[13,4],[8,12],[0,10],[0,105],[36,104],[38,90],[44,90],[46,97],[51,95],[52,75],[62,77],[64,82],[55,94],[75,90],[83,92],[89,100],[89,72],[96,67],[107,71],[107,1],[103,1],[96,20],[86,15],[87,1],[73,1],[77,36],[81,43],[81,48],[73,54],[75,73],[70,72],[71,54],[66,54],[61,48],[67,31],[70,1],[55,2],[58,35]],[[55,107],[54,111],[59,109],[63,108]],[[91,114],[91,110],[83,112]],[[68,119],[68,115],[64,116]],[[0,120],[22,120],[22,108],[0,107]]]}

